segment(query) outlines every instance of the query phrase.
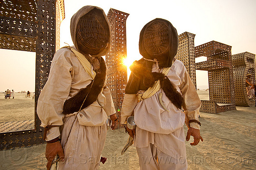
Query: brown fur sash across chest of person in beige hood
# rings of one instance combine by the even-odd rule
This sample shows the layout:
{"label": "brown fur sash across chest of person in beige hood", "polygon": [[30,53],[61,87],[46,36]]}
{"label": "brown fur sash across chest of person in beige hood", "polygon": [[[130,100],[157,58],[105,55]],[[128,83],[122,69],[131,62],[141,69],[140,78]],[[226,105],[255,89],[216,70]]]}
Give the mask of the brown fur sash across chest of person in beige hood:
{"label": "brown fur sash across chest of person in beige hood", "polygon": [[68,99],[63,105],[63,114],[70,114],[79,111],[84,99],[82,108],[90,106],[98,98],[102,91],[106,78],[106,64],[102,57],[99,58],[100,68],[97,72],[94,81],[92,81],[86,88],[81,88],[80,91],[72,98]]}

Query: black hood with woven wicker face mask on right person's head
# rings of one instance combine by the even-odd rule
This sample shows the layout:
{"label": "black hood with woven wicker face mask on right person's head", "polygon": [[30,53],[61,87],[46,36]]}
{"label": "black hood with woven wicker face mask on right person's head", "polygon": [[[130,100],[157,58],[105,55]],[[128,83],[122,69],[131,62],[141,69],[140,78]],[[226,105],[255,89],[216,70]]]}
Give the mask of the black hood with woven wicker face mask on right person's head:
{"label": "black hood with woven wicker face mask on right person's head", "polygon": [[[170,67],[177,54],[177,49],[178,34],[168,20],[156,18],[142,28],[139,51],[144,59],[154,60],[155,58],[159,62],[159,67]],[[147,67],[152,66],[149,62]]]}

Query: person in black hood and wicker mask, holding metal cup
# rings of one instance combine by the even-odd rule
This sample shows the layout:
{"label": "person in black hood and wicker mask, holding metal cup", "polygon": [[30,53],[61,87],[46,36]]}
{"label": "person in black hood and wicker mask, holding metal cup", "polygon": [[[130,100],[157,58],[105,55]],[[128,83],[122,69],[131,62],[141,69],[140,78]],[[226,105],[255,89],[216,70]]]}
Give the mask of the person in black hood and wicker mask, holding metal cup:
{"label": "person in black hood and wicker mask, holding metal cup", "polygon": [[[186,140],[200,139],[201,101],[184,64],[175,59],[178,34],[172,23],[156,18],[140,32],[143,56],[130,69],[121,111],[121,124],[134,115],[136,129],[126,127],[134,138],[140,169],[186,169]],[[183,109],[184,111],[183,111]]]}

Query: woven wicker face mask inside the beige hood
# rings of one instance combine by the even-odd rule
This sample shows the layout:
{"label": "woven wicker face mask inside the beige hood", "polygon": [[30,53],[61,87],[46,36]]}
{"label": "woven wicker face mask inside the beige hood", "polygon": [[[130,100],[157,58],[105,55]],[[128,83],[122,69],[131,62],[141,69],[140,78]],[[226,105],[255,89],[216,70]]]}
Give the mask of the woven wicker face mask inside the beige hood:
{"label": "woven wicker face mask inside the beige hood", "polygon": [[109,42],[110,31],[102,12],[93,9],[83,15],[76,31],[78,51],[82,54],[97,55]]}

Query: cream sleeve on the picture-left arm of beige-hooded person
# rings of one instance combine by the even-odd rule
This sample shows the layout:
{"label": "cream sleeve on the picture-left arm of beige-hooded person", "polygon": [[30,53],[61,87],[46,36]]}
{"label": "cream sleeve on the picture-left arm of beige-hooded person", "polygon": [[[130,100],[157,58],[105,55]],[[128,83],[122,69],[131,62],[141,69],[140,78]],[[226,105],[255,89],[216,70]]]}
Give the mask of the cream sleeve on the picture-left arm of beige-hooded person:
{"label": "cream sleeve on the picture-left arm of beige-hooded person", "polygon": [[[67,100],[73,79],[73,67],[65,50],[55,53],[47,83],[42,89],[37,102],[37,114],[41,126],[63,125],[62,107]],[[58,128],[48,131],[46,140],[52,140],[60,135]]]}

